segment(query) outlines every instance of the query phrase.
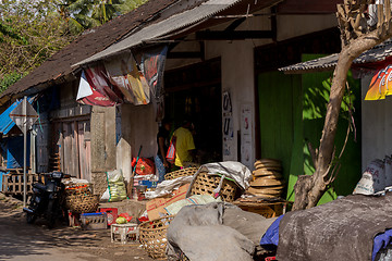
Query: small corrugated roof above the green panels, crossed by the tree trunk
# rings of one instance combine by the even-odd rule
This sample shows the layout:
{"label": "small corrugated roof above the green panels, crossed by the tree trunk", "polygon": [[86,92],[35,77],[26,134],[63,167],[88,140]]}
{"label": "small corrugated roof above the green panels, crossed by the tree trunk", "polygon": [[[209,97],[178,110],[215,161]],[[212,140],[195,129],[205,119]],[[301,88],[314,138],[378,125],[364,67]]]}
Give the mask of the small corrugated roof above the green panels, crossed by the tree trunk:
{"label": "small corrugated roof above the green panels, crossed by the tree trunk", "polygon": [[[392,41],[384,41],[381,45],[364,52],[353,61],[353,64],[364,64],[384,61],[387,58],[392,57]],[[287,74],[302,74],[331,71],[336,66],[339,53],[328,57],[318,58],[315,60],[296,63],[290,66],[281,67],[279,71]]]}

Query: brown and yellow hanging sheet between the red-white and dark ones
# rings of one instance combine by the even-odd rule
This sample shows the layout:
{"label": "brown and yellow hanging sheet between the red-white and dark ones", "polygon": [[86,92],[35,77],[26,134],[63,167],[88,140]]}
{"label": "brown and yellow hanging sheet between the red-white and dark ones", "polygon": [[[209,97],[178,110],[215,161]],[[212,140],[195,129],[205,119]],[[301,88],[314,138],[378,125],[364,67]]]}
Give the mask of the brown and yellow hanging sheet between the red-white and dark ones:
{"label": "brown and yellow hanging sheet between the red-white and dark ones", "polygon": [[122,92],[125,102],[135,105],[150,102],[150,88],[132,53],[106,62],[105,67],[110,83]]}

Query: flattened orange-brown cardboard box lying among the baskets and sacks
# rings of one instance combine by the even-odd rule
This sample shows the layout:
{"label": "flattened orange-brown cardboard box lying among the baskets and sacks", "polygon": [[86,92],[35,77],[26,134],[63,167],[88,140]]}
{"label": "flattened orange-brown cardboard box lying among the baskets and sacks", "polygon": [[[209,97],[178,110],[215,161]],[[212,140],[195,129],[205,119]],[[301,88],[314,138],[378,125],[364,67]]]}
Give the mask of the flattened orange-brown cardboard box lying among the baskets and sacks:
{"label": "flattened orange-brown cardboard box lying among the baskets and sacks", "polygon": [[183,185],[177,190],[174,190],[172,197],[161,197],[149,200],[146,203],[148,219],[155,220],[161,217],[162,215],[167,215],[168,213],[164,208],[181,199],[185,199],[189,185],[191,184]]}

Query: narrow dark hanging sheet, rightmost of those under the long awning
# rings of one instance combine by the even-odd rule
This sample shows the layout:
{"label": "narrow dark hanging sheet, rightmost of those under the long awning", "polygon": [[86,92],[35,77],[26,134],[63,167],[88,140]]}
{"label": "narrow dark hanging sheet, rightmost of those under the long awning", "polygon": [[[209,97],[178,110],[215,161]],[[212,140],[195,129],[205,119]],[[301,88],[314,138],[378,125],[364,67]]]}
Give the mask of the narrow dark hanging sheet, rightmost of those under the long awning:
{"label": "narrow dark hanging sheet, rightmost of those under the long awning", "polygon": [[142,57],[142,71],[152,92],[152,105],[157,122],[160,122],[164,116],[163,72],[167,54],[168,46],[164,46],[145,52]]}

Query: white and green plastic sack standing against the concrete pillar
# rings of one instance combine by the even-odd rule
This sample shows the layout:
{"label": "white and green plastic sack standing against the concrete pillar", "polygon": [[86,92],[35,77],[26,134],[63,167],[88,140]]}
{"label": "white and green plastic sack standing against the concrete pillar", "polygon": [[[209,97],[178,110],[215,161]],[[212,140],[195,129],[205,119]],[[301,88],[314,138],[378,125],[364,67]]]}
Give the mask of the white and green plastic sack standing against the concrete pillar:
{"label": "white and green plastic sack standing against the concrete pillar", "polygon": [[109,202],[126,199],[124,177],[121,170],[107,172]]}

